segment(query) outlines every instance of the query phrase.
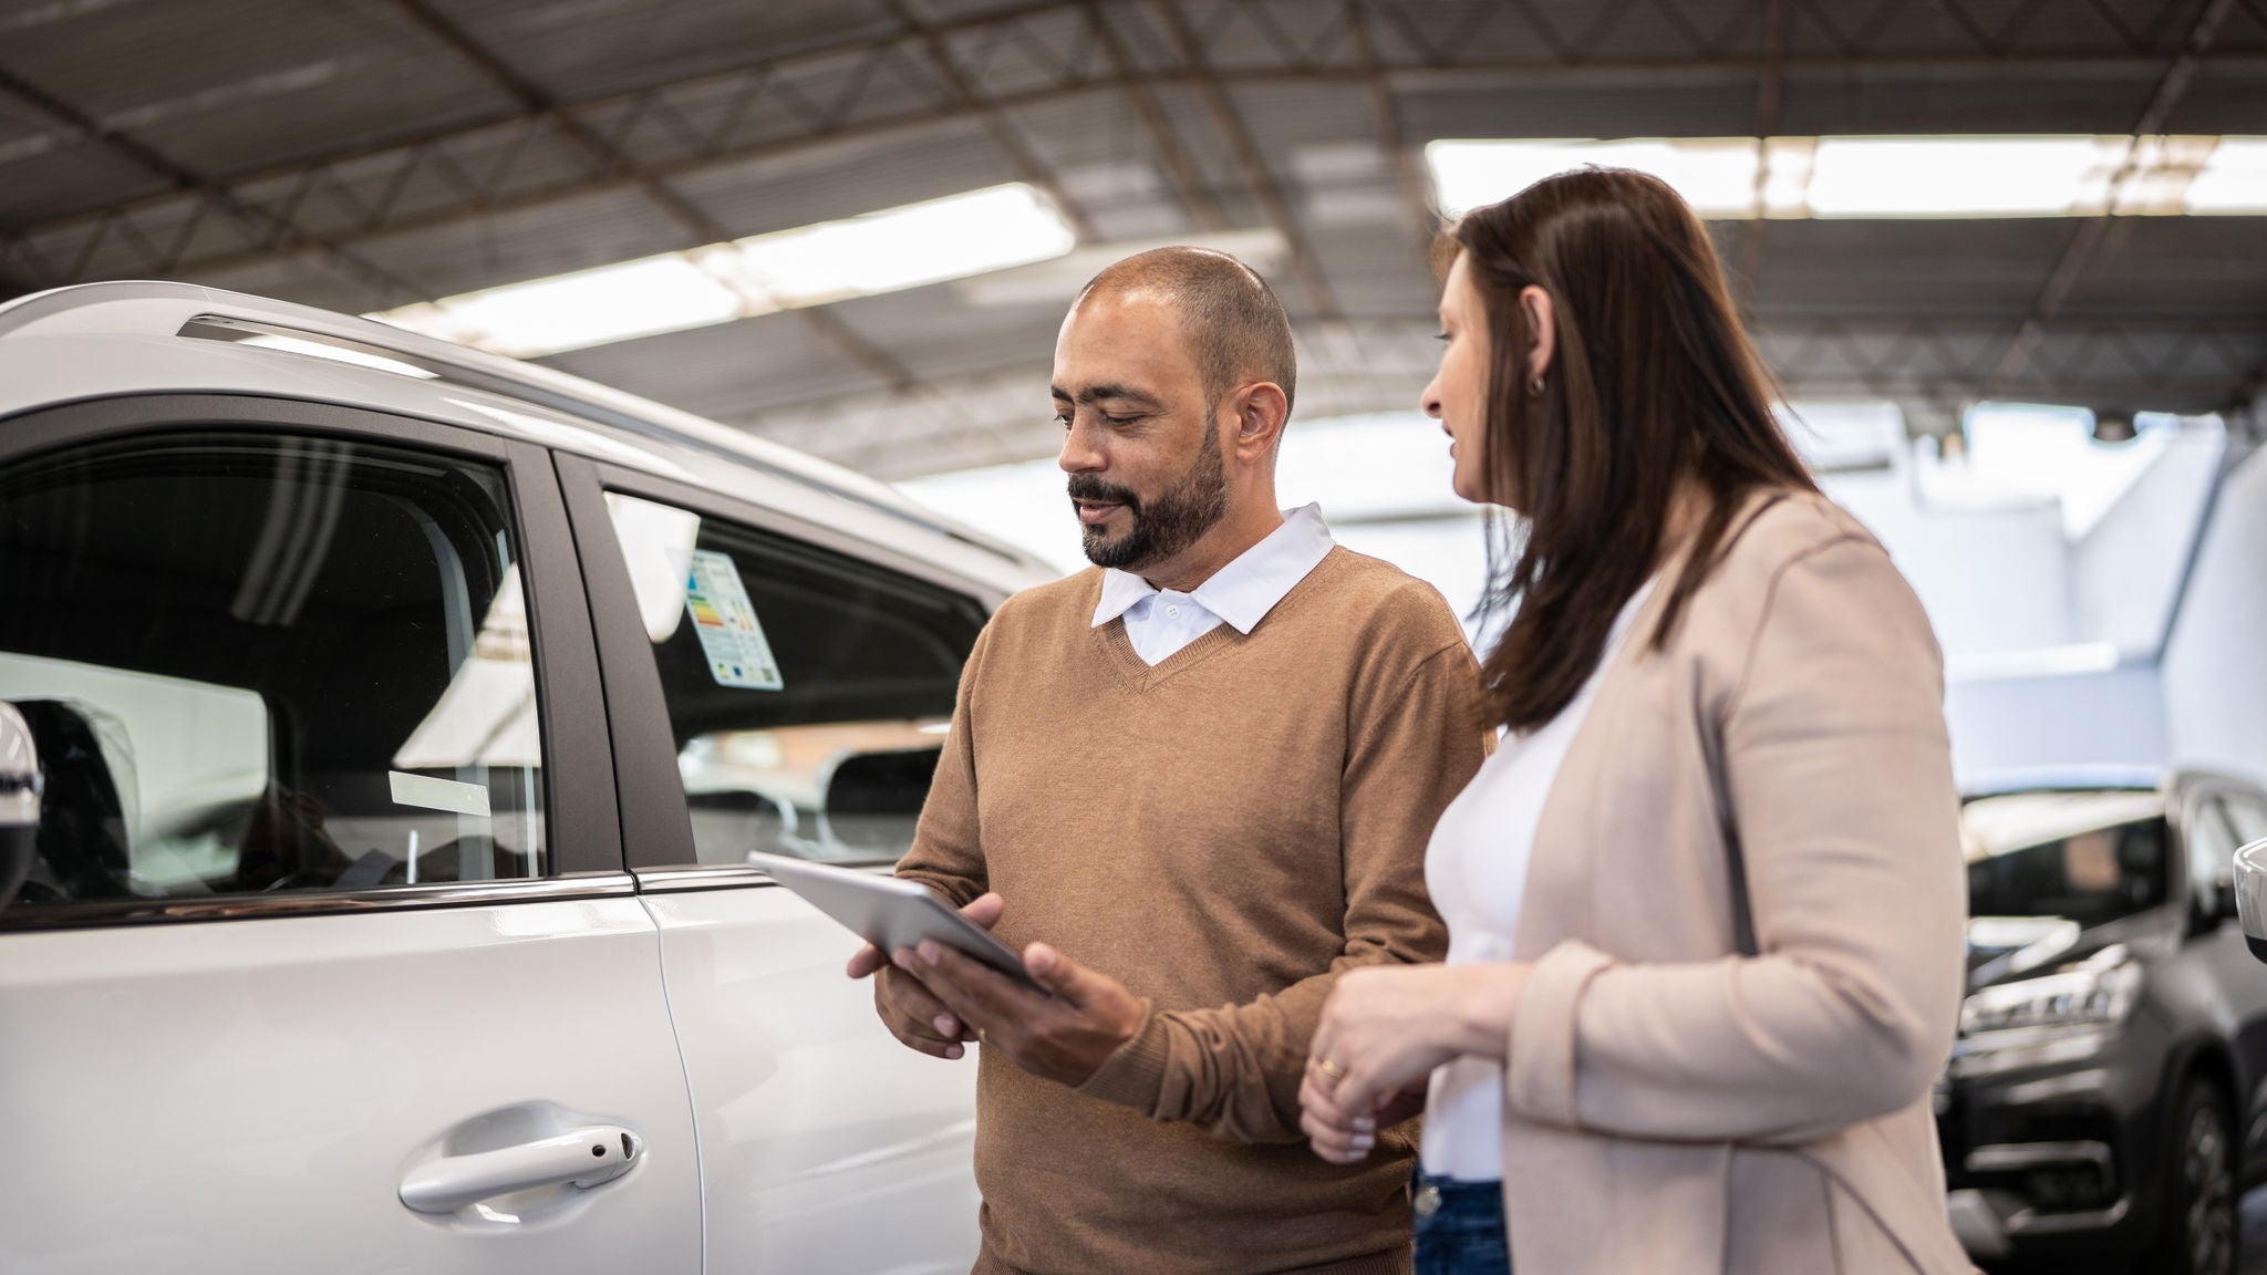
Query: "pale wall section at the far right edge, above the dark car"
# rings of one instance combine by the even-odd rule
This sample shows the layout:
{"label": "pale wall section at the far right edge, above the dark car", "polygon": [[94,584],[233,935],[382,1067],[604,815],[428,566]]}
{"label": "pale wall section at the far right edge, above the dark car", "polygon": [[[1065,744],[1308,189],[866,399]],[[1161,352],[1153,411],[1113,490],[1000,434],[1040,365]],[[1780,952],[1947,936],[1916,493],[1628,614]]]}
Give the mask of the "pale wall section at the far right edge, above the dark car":
{"label": "pale wall section at the far right edge, above the dark car", "polygon": [[2267,780],[2267,449],[2219,492],[2163,681],[2176,760]]}

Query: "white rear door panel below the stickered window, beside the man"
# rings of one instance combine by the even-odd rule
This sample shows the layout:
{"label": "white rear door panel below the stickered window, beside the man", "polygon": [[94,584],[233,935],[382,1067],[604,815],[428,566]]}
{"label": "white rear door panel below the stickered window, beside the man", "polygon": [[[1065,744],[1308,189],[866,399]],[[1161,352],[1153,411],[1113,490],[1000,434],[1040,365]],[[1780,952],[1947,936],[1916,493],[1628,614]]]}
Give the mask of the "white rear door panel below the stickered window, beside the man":
{"label": "white rear door panel below the stickered window, beside the man", "polygon": [[701,1125],[710,1266],[968,1270],[975,1057],[891,1039],[873,987],[843,978],[857,939],[787,889],[644,901]]}

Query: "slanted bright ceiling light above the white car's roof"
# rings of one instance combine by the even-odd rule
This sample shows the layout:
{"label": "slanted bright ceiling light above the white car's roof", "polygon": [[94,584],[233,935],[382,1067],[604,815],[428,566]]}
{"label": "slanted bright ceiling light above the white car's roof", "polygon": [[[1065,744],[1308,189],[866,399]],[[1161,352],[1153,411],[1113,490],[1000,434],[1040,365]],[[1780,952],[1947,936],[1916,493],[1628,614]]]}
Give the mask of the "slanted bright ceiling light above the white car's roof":
{"label": "slanted bright ceiling light above the white car's roof", "polygon": [[535,358],[1047,261],[1075,238],[1031,186],[991,186],[370,318]]}

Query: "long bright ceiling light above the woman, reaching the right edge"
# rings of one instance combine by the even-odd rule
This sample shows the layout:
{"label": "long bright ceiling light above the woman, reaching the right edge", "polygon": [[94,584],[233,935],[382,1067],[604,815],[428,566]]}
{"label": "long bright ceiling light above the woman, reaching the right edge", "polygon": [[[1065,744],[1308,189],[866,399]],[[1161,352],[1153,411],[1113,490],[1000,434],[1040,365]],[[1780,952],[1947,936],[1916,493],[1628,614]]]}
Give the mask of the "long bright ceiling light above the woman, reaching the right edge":
{"label": "long bright ceiling light above the woman, reaching the right edge", "polygon": [[2267,213],[2267,138],[1775,136],[1435,141],[1451,216],[1580,166],[1637,168],[1703,218]]}

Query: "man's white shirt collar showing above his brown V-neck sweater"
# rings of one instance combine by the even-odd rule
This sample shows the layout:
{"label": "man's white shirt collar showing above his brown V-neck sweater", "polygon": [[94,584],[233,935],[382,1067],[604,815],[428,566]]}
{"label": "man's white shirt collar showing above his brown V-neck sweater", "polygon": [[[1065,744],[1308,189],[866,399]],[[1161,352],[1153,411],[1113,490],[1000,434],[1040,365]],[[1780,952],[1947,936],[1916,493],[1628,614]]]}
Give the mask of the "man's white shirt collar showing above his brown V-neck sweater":
{"label": "man's white shirt collar showing above his brown V-neck sweater", "polygon": [[1222,624],[1233,624],[1238,633],[1258,628],[1274,603],[1322,565],[1333,544],[1322,506],[1310,504],[1285,513],[1283,526],[1213,572],[1195,592],[1161,590],[1134,572],[1111,567],[1102,576],[1093,626],[1102,628],[1124,615],[1134,653],[1152,667],[1161,665]]}

